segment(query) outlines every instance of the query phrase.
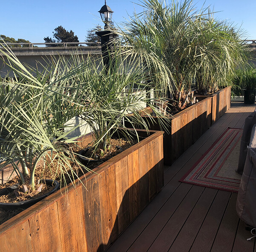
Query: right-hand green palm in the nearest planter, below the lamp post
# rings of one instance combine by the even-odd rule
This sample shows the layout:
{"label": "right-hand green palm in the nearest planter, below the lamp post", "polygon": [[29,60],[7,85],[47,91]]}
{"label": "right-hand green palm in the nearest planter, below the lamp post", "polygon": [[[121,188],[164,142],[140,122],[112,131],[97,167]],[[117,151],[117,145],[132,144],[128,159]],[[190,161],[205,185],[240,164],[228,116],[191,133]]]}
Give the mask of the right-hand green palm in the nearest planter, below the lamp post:
{"label": "right-hand green palm in the nearest planter, below the lamp post", "polygon": [[[148,114],[148,120],[153,121],[154,116],[161,117],[160,124],[166,129],[169,119],[155,106],[155,98],[150,98],[148,86],[148,72],[145,66],[139,66],[136,58],[130,57],[124,60],[119,49],[114,50],[110,56],[109,66],[104,65],[102,59],[99,65],[90,64],[90,71],[84,72],[83,82],[86,92],[84,99],[93,113],[81,113],[80,117],[92,129],[95,137],[93,148],[99,146],[106,151],[110,138],[116,131],[122,128],[123,134],[130,138],[136,131],[130,131],[125,127],[124,120],[148,129],[148,123],[142,119],[139,111],[145,105],[151,107],[153,114]],[[163,103],[164,98],[158,99]],[[133,113],[133,120],[129,114]]]}

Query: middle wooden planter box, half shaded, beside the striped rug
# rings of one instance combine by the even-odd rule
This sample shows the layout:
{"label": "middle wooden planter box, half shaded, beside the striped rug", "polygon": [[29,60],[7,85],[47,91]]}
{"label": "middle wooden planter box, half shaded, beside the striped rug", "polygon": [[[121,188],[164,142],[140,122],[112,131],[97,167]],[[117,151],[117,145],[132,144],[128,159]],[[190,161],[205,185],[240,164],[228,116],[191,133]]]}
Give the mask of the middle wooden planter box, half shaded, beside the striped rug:
{"label": "middle wooden planter box, half shaded, beside the striped rug", "polygon": [[[146,116],[148,112],[150,112],[149,107],[142,110],[141,115],[145,113],[144,120],[148,122],[149,128],[160,130],[157,117],[154,118],[156,123],[151,122]],[[166,165],[172,165],[209,129],[212,120],[211,113],[212,97],[205,97],[172,117],[167,129],[169,133],[165,132],[163,137],[163,156]],[[125,124],[127,127],[131,127],[131,123],[125,122]]]}

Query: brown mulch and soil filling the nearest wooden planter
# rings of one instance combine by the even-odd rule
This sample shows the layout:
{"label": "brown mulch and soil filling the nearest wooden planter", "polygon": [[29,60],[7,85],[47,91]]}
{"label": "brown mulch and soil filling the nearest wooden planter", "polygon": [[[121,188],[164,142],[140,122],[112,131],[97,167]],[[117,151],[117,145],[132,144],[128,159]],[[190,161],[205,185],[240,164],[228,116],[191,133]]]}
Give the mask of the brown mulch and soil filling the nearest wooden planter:
{"label": "brown mulch and soil filling the nearest wooden planter", "polygon": [[[101,163],[104,163],[106,160],[109,160],[113,156],[118,155],[125,149],[128,149],[131,145],[133,145],[135,143],[136,142],[131,142],[124,138],[111,139],[110,143],[107,145],[107,150],[106,150],[106,152],[104,152],[104,154],[102,154],[101,146],[99,147],[99,149],[96,152],[94,152],[93,149],[90,148],[91,145],[89,144],[85,148],[85,149],[89,149],[86,152],[85,156],[90,160],[92,160],[94,158],[93,162],[92,161],[88,162],[87,160],[82,160],[81,158],[78,158],[78,159],[88,169],[93,169],[93,168],[99,166]],[[80,151],[81,151],[81,149],[77,149],[77,148],[75,149],[76,153],[79,153]],[[56,162],[57,162],[57,160],[56,160]],[[69,175],[66,174],[64,177],[61,176],[60,174],[55,175],[56,167],[57,166],[55,166],[54,163],[52,163],[52,165],[50,167],[51,169],[47,169],[47,171],[43,170],[43,166],[38,167],[38,169],[36,170],[36,174],[35,174],[35,181],[38,182],[42,178],[43,179],[47,179],[47,178],[55,179],[61,184],[61,187],[65,186],[65,184],[70,183],[71,180],[69,178]],[[81,169],[81,167],[74,167],[74,169],[76,169],[79,177],[81,177],[82,175],[84,175],[87,172],[86,170]],[[55,175],[55,176],[53,176],[53,175]],[[64,181],[64,180],[66,180],[66,181]],[[15,185],[15,184],[20,184],[20,179],[17,177],[13,178],[12,180],[10,180],[8,183],[6,183],[4,185],[0,185],[0,189],[6,188],[7,186]],[[45,183],[43,183],[41,192],[38,192],[38,188],[41,186],[41,184],[36,183],[34,190],[32,190],[32,188],[29,186],[29,180],[27,180],[25,184],[28,189],[27,192],[23,192],[22,186],[19,186],[19,188],[16,189],[15,192],[9,193],[8,195],[0,196],[0,202],[2,202],[2,203],[18,202],[18,201],[28,200],[28,199],[32,199],[32,198],[37,198],[41,195],[46,194],[53,188],[52,186],[48,186]],[[0,207],[0,224],[9,220],[10,218],[12,218],[13,216],[22,212],[23,210],[24,210],[24,208],[18,208],[16,210],[12,210],[12,211],[10,211],[10,210],[4,211]]]}

